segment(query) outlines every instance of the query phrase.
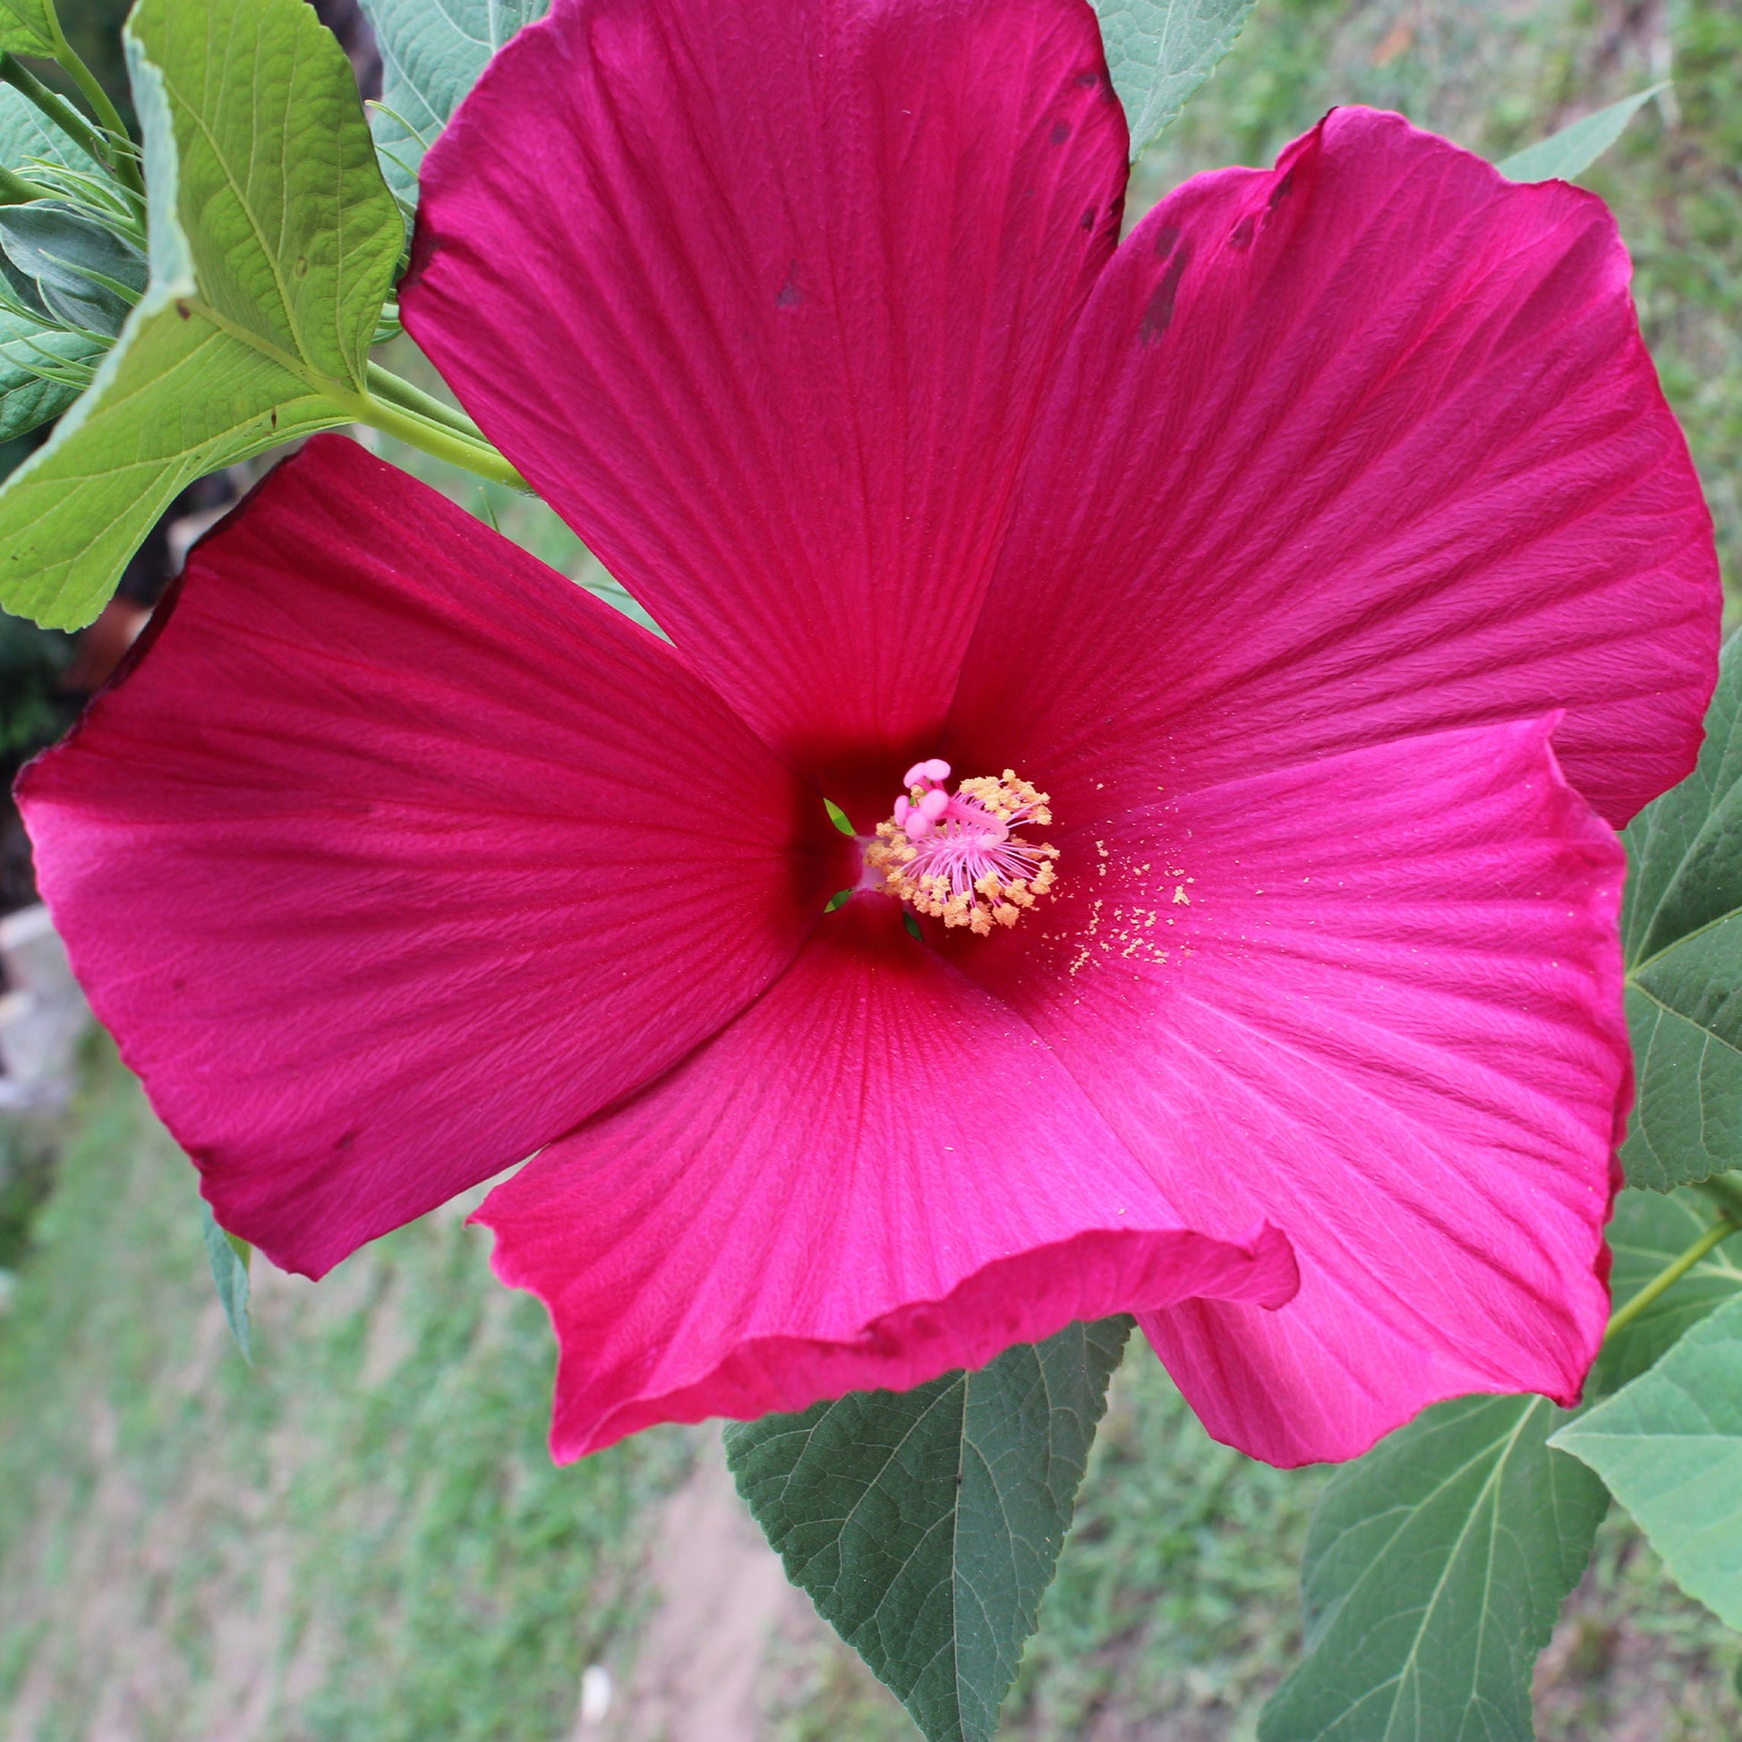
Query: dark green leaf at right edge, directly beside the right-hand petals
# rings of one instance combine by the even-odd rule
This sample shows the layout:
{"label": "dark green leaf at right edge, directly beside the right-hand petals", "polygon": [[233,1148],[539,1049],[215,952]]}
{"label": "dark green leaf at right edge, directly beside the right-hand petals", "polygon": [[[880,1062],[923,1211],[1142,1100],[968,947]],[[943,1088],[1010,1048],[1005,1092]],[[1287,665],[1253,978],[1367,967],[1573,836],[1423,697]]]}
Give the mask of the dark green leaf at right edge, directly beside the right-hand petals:
{"label": "dark green leaf at right edge, directly beside the right-hand petals", "polygon": [[1637,1078],[1622,1165],[1672,1186],[1742,1165],[1742,645],[1718,664],[1705,747],[1624,836],[1627,1026]]}

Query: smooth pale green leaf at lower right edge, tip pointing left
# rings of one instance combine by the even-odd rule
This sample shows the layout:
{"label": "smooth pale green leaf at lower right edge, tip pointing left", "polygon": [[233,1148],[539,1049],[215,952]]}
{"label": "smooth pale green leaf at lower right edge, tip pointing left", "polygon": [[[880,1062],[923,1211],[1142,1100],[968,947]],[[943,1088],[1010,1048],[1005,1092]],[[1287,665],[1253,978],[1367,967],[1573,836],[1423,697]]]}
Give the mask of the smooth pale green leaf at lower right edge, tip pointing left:
{"label": "smooth pale green leaf at lower right edge, tip pointing left", "polygon": [[1554,1444],[1608,1482],[1690,1597],[1742,1627],[1742,1300]]}

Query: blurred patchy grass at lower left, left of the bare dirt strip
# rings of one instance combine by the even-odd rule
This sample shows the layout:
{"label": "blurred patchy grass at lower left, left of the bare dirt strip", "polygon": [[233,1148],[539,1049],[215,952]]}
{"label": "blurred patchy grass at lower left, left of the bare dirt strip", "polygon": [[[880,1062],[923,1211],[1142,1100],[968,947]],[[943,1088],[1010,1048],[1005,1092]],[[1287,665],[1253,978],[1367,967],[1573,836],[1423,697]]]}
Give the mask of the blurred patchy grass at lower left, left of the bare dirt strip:
{"label": "blurred patchy grass at lower left, left of the bare dirt strip", "polygon": [[230,1343],[111,1045],[0,1319],[0,1733],[556,1742],[627,1669],[678,1430],[556,1469],[544,1312],[442,1212]]}

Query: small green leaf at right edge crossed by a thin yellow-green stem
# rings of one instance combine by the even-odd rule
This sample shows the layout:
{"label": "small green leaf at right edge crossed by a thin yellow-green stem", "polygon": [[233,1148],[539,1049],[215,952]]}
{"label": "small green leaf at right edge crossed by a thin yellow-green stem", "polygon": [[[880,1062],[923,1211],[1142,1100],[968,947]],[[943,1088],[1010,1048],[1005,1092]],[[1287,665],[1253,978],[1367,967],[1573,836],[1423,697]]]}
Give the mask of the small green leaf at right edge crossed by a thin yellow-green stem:
{"label": "small green leaf at right edge crossed by a thin yellow-green stem", "polygon": [[[1625,1306],[1711,1225],[1712,1205],[1698,1192],[1683,1188],[1669,1197],[1657,1192],[1622,1192],[1610,1223],[1610,1251],[1615,1254],[1610,1289],[1615,1305]],[[1629,1380],[1636,1380],[1690,1326],[1735,1294],[1742,1294],[1742,1268],[1732,1249],[1721,1246],[1603,1345],[1587,1395],[1620,1390]]]}

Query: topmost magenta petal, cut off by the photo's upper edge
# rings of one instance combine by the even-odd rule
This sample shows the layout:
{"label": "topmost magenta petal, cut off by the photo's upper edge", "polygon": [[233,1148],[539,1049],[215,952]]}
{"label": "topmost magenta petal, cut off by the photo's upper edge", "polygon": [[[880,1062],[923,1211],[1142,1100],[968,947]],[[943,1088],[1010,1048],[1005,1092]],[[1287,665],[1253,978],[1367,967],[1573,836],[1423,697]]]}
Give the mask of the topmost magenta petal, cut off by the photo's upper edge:
{"label": "topmost magenta petal, cut off by the photo's upper edge", "polygon": [[559,0],[406,324],[768,742],[911,760],[1124,181],[1082,0]]}

